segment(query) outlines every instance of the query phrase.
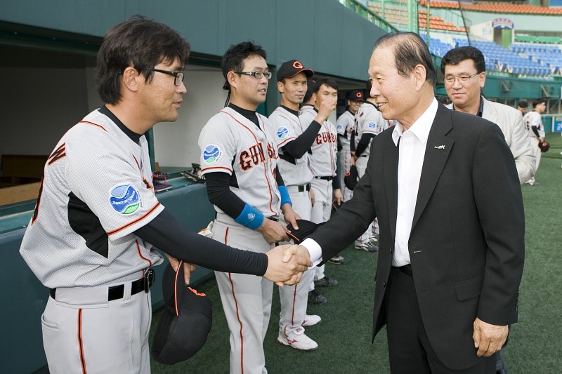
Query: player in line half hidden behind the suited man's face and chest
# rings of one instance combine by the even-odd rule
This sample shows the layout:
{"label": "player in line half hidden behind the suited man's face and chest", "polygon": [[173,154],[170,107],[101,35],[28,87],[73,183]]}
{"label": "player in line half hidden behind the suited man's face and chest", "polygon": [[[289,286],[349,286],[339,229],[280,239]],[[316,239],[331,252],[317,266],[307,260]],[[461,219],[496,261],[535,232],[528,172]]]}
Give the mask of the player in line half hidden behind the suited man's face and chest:
{"label": "player in line half hidden behind the suited man's face and chest", "polygon": [[[367,92],[365,102],[362,103],[357,113],[355,113],[355,131],[353,133],[355,149],[351,149],[359,178],[365,174],[365,169],[367,168],[372,138],[385,130],[387,125],[385,119],[382,118],[381,112],[377,109],[374,98],[370,96],[370,81],[367,81],[365,92]],[[369,226],[365,234],[362,234],[355,241],[355,249],[377,252],[379,247],[372,244],[372,240],[374,240],[374,230],[376,229],[378,229],[378,224],[375,218],[373,224]]]}

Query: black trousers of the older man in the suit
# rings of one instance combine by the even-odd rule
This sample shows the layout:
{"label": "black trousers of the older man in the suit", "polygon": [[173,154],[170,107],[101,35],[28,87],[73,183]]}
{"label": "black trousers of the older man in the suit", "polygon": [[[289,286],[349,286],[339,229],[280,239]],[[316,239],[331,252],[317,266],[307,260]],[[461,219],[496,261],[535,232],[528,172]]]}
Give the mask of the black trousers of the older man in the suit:
{"label": "black trousers of the older man in the suit", "polygon": [[495,354],[465,370],[452,370],[443,365],[433,352],[421,321],[412,276],[393,268],[384,302],[391,373],[495,373]]}

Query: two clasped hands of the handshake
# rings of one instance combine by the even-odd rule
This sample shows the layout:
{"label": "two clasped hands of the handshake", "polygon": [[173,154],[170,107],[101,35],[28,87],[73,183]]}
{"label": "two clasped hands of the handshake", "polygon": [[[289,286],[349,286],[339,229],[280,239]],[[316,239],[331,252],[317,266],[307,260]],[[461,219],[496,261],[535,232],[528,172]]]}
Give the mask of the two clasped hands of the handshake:
{"label": "two clasped hands of the handshake", "polygon": [[303,246],[294,244],[277,246],[266,255],[268,269],[263,277],[277,283],[277,286],[298,283],[302,273],[312,266],[308,250]]}

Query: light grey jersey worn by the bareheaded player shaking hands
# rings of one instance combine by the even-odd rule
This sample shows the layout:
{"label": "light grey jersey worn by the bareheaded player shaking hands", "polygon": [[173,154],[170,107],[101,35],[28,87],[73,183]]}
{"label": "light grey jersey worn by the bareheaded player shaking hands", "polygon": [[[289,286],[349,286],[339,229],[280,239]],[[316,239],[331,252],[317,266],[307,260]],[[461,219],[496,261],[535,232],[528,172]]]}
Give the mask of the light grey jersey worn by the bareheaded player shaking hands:
{"label": "light grey jersey worn by the bareheaded player shaking hands", "polygon": [[95,110],[49,156],[20,253],[49,288],[134,281],[162,258],[133,232],[163,209],[145,137]]}

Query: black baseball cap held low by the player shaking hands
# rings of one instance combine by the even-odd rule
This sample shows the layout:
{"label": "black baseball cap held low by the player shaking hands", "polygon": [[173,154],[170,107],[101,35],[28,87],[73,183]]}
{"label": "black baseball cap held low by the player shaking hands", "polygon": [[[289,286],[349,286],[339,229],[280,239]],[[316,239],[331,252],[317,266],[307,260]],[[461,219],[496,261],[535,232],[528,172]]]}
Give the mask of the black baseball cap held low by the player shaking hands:
{"label": "black baseball cap held low by the player shaking hands", "polygon": [[211,300],[183,282],[183,262],[174,272],[167,265],[162,277],[164,312],[152,342],[152,357],[159,363],[178,363],[199,352],[213,320]]}

